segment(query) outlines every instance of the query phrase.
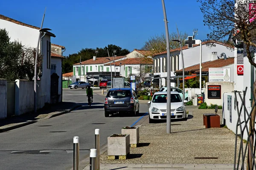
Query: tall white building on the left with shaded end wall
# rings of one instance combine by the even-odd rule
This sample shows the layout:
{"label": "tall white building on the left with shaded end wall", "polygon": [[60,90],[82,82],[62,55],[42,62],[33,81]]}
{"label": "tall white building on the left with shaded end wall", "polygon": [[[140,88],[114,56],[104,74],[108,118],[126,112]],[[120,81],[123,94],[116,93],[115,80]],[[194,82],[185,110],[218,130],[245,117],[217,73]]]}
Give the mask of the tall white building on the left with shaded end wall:
{"label": "tall white building on the left with shaded end wall", "polygon": [[[19,41],[26,48],[36,48],[38,43],[38,36],[40,34],[39,27],[31,26],[26,23],[14,20],[12,18],[0,15],[0,28],[5,28],[9,33],[11,41]],[[39,50],[43,56],[42,63],[42,75],[40,81],[38,81],[38,90],[37,90],[37,108],[42,108],[45,103],[52,103],[51,100],[51,66],[52,64],[56,65],[56,73],[61,77],[61,56],[52,56],[51,55],[51,37],[55,37],[54,34],[49,31],[45,31],[42,34]],[[54,58],[52,58],[54,57]],[[61,80],[61,79],[60,79]],[[61,81],[58,85],[58,99],[61,101]],[[34,98],[34,96],[31,96]],[[56,100],[55,100],[56,101]]]}

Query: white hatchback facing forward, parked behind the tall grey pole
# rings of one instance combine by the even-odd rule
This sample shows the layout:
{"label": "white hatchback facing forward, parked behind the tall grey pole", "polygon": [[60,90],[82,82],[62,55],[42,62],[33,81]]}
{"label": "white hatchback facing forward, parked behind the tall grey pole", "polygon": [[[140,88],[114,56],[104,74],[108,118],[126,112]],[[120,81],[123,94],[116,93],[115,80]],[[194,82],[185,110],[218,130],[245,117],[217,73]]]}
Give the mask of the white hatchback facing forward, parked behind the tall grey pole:
{"label": "white hatchback facing forward, parked behind the tall grey pole", "polygon": [[[184,103],[188,102],[180,97],[177,91],[171,92],[171,119],[186,119],[186,107]],[[149,104],[149,123],[153,123],[155,120],[166,119],[167,109],[167,92],[161,91],[154,93],[152,100]]]}

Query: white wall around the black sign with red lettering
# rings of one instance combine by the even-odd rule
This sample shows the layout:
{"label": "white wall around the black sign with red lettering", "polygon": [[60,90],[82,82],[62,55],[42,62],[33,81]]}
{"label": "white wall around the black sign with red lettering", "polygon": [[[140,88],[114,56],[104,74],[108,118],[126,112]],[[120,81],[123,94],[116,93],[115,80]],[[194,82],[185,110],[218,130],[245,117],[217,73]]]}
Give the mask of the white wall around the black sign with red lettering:
{"label": "white wall around the black sign with red lettering", "polygon": [[[208,99],[208,85],[221,85],[221,99]],[[207,105],[212,103],[213,105],[222,105],[223,104],[223,94],[230,93],[234,91],[234,83],[233,82],[206,82],[205,83],[205,102]]]}

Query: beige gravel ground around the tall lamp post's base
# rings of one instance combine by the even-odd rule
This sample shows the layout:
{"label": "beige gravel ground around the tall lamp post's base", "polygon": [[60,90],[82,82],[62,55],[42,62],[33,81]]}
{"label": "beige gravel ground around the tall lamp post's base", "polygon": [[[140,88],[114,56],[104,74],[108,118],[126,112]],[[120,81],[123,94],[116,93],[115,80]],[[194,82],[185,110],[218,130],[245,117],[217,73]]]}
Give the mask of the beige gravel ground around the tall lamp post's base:
{"label": "beige gravel ground around the tall lamp post's base", "polygon": [[[105,152],[100,156],[101,164],[233,164],[235,134],[225,127],[205,129],[203,114],[214,113],[213,109],[199,110],[198,106],[186,108],[191,114],[190,119],[172,121],[171,134],[166,134],[166,123],[142,125],[141,147],[130,148],[130,156],[126,160],[108,160],[108,153]],[[222,110],[218,110],[218,115],[222,120]]]}

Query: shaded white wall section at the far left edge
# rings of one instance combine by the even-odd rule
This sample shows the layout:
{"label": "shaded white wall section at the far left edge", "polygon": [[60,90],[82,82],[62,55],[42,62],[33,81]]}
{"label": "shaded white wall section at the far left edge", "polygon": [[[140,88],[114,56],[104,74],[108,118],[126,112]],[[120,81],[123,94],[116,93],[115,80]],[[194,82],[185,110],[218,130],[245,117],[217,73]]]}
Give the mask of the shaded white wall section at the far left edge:
{"label": "shaded white wall section at the far left edge", "polygon": [[0,79],[0,119],[7,116],[7,80]]}

